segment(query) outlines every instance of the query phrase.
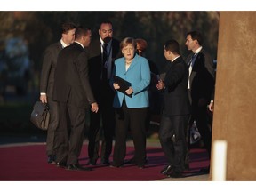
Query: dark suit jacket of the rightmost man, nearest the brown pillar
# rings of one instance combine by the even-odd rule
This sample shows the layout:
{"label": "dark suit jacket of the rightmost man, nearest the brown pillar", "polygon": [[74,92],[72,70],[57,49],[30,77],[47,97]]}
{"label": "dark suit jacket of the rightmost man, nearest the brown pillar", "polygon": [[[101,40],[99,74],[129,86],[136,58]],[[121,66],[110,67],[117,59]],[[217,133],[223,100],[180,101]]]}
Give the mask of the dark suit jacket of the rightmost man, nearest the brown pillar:
{"label": "dark suit jacket of the rightmost man, nearest the brown pillar", "polygon": [[[192,54],[188,55],[187,63]],[[214,92],[215,70],[213,60],[204,48],[198,52],[190,74],[190,87],[192,100],[204,99],[208,104]]]}

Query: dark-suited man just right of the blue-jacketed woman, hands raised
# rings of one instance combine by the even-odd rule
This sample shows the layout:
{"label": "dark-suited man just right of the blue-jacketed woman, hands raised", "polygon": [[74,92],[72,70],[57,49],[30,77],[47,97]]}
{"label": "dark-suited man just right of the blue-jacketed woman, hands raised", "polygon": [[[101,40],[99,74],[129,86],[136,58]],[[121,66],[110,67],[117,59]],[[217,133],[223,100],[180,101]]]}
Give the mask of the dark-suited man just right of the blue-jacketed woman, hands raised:
{"label": "dark-suited man just right of the blue-jacketed woman, hands raised", "polygon": [[167,166],[161,173],[169,177],[181,177],[185,169],[186,131],[190,115],[188,100],[188,66],[180,56],[177,41],[164,44],[164,57],[169,60],[164,81],[156,87],[164,89],[164,109],[160,121],[159,139],[167,158]]}

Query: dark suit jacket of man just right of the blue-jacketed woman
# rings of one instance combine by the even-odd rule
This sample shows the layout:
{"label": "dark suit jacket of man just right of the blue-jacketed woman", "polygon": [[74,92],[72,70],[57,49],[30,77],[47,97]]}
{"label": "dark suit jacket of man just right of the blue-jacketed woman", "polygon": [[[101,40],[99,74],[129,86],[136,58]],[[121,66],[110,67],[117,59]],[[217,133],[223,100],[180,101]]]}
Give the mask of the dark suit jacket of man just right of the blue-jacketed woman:
{"label": "dark suit jacket of man just right of the blue-jacketed woman", "polygon": [[188,66],[179,57],[170,62],[164,78],[164,116],[180,116],[190,113],[188,100]]}

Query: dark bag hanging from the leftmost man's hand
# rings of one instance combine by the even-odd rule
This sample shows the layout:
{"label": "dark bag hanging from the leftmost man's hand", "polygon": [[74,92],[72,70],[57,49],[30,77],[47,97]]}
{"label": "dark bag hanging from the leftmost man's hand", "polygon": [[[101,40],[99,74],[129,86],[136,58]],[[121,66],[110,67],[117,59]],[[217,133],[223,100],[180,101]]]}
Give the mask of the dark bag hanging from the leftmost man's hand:
{"label": "dark bag hanging from the leftmost man's hand", "polygon": [[35,124],[37,128],[46,131],[50,122],[48,105],[41,101],[36,101],[30,116],[30,121]]}

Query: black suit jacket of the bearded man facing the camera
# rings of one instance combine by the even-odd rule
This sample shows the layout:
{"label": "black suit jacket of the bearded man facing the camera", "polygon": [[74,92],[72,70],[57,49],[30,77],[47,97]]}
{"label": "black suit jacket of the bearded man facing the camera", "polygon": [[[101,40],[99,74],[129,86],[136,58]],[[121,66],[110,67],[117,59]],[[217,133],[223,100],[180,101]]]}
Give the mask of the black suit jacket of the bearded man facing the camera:
{"label": "black suit jacket of the bearded man facing the camera", "polygon": [[[112,38],[112,68],[114,67],[114,61],[116,58],[119,58],[121,56],[121,53],[119,51],[120,49],[120,43],[115,38]],[[89,68],[90,68],[90,83],[92,85],[92,92],[94,93],[94,96],[97,97],[100,94],[100,77],[101,77],[101,71],[102,71],[102,57],[101,57],[101,43],[100,43],[100,37],[96,38],[92,41],[92,43],[89,46]]]}

